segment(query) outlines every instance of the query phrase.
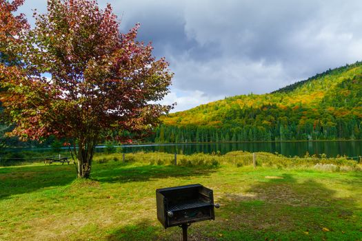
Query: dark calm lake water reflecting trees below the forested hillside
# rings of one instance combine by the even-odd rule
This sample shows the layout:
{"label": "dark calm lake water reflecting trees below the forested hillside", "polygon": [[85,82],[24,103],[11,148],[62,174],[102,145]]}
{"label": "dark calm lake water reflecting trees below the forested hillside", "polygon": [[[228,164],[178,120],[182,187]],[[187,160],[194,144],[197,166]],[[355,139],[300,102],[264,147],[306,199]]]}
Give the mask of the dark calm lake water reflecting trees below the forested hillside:
{"label": "dark calm lake water reflecting trees below the forested hillside", "polygon": [[[210,154],[212,152],[220,151],[225,154],[229,151],[266,151],[284,156],[305,156],[308,151],[310,155],[326,154],[328,157],[349,156],[357,157],[362,156],[362,141],[305,141],[305,142],[270,142],[270,143],[192,143],[192,144],[161,144],[161,145],[123,145],[122,151],[126,153],[137,151],[162,151],[174,154],[194,154],[203,152]],[[37,151],[46,152],[52,150],[51,148],[41,149],[8,149],[8,151]],[[104,147],[97,147],[97,152],[102,152]],[[63,149],[66,153],[66,149]]]}

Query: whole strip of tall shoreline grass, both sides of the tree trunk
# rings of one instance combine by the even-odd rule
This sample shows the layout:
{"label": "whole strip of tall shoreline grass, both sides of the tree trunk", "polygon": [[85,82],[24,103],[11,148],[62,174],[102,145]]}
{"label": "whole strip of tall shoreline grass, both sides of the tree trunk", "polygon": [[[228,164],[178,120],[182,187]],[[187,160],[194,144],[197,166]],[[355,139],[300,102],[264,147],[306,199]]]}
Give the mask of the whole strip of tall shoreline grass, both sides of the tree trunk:
{"label": "whole strip of tall shoreline grass, both sides of the tree trunk", "polygon": [[[164,152],[137,152],[130,154],[121,153],[121,149],[105,149],[103,153],[94,154],[95,163],[108,163],[110,161],[119,161],[125,163],[141,163],[144,165],[174,165],[174,154]],[[23,165],[27,163],[43,162],[45,156],[58,156],[59,151],[46,151],[37,153],[33,151],[9,152],[1,155],[0,166]],[[61,156],[68,156],[68,151],[61,151]],[[39,158],[38,158],[39,157]],[[281,154],[271,154],[268,152],[255,153],[257,167],[276,167],[285,168],[311,168],[325,169],[327,165],[336,165],[338,168],[333,170],[349,171],[361,170],[361,160],[350,160],[347,157],[326,158],[324,154],[320,156],[310,156],[306,154],[303,158],[287,158]],[[253,154],[248,151],[230,151],[221,155],[220,152],[212,154],[177,154],[177,165],[183,167],[217,167],[219,165],[231,165],[234,167],[243,167],[253,165]],[[324,166],[323,166],[324,165]]]}

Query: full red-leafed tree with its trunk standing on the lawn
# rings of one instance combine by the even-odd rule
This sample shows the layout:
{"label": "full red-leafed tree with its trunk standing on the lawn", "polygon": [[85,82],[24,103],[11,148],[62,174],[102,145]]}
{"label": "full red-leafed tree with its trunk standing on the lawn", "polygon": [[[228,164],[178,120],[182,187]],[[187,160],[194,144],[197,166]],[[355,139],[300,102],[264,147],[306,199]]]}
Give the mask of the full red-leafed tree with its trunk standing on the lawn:
{"label": "full red-leafed tree with its trunk standing on the lawn", "polygon": [[[23,45],[23,74],[8,75],[2,98],[16,123],[13,135],[70,138],[80,178],[88,178],[94,147],[110,132],[143,136],[171,106],[155,104],[169,92],[172,73],[152,46],[127,34],[108,5],[91,0],[48,0],[48,13]],[[50,74],[50,78],[43,77]]]}

